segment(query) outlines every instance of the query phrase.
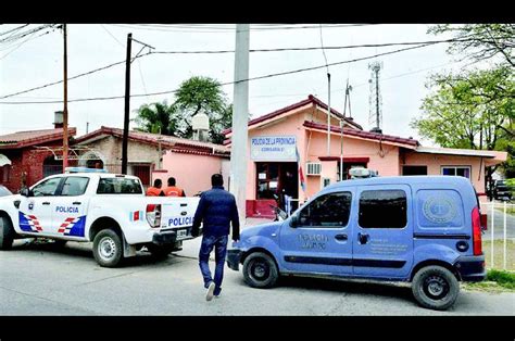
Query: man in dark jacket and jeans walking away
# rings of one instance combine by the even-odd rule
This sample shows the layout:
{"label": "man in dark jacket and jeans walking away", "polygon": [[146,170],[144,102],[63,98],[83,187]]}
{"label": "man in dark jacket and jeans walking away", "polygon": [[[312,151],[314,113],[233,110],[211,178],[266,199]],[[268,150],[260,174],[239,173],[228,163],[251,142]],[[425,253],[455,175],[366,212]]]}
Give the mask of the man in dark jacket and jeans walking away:
{"label": "man in dark jacket and jeans walking away", "polygon": [[[225,256],[227,253],[227,240],[233,223],[233,240],[240,238],[240,223],[235,197],[224,190],[224,178],[221,174],[211,176],[213,188],[200,197],[199,206],[194,213],[191,235],[200,235],[200,223],[203,222],[202,244],[199,252],[199,266],[204,279],[204,288],[208,289],[205,300],[211,301],[213,296],[219,296],[222,280],[224,278]],[[215,276],[211,277],[209,261],[210,254],[215,249]]]}

